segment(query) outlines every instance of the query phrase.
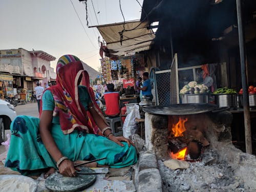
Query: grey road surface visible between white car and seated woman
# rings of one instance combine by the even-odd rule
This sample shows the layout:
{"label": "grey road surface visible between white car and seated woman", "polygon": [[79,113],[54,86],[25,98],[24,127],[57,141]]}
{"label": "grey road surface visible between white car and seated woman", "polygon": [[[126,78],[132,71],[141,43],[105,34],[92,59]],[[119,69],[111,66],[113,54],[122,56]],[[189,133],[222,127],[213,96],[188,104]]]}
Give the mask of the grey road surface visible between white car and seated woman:
{"label": "grey road surface visible between white car and seated woman", "polygon": [[[15,111],[17,115],[28,115],[32,117],[39,117],[37,102],[28,102],[28,104],[18,104],[15,107]],[[10,134],[10,130],[5,131],[6,134]],[[5,152],[5,147],[0,145],[0,154]]]}

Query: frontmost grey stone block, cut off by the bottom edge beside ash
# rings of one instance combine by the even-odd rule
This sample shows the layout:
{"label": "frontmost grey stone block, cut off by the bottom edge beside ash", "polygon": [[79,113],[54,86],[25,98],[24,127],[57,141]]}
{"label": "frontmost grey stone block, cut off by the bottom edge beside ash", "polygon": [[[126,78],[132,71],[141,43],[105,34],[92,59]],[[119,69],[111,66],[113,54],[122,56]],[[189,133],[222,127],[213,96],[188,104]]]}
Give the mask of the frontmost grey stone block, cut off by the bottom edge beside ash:
{"label": "frontmost grey stone block, cut off by the bottom edge beside ash", "polygon": [[162,192],[162,179],[157,168],[141,170],[138,179],[138,192]]}

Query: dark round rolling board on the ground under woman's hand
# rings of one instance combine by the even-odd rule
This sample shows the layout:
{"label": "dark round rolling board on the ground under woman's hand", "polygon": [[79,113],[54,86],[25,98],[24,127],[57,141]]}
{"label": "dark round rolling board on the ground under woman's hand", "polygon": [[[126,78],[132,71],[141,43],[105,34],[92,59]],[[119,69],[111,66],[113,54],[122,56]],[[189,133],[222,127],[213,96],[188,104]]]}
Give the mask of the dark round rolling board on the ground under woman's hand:
{"label": "dark round rolling board on the ground under woman's hand", "polygon": [[[81,167],[79,172],[83,173],[95,173],[95,170],[88,167]],[[96,175],[80,175],[76,177],[64,177],[60,173],[54,173],[50,175],[46,181],[45,185],[51,191],[80,191],[91,186],[96,180]]]}

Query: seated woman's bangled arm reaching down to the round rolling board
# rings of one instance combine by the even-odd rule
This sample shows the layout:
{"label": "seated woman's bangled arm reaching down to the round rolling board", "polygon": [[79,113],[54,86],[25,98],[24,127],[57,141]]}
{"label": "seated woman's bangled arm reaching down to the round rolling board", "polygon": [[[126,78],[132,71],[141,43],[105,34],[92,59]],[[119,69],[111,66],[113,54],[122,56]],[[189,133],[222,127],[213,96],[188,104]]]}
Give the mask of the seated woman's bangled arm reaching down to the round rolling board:
{"label": "seated woman's bangled arm reaching down to the round rolling board", "polygon": [[[60,158],[63,157],[63,155],[59,151],[51,134],[52,115],[53,115],[53,111],[42,111],[40,122],[39,122],[39,131],[40,131],[42,142],[46,146],[47,151],[53,157],[53,159],[57,162]],[[76,170],[74,168],[73,162],[68,159],[60,163],[59,172],[60,174],[67,177],[76,176]]]}

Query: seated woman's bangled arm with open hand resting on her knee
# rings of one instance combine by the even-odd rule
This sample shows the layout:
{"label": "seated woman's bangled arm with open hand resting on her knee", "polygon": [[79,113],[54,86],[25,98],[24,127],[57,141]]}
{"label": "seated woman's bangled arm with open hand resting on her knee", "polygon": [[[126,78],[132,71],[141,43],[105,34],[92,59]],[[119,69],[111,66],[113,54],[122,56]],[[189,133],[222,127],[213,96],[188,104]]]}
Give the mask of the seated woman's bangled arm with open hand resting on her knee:
{"label": "seated woman's bangled arm with open hand resting on her knee", "polygon": [[[89,104],[89,111],[93,116],[94,121],[96,122],[96,124],[98,125],[100,130],[103,130],[105,127],[109,126],[105,123],[105,121],[102,119],[102,117],[98,114],[98,112],[93,108],[93,104],[90,103]],[[104,132],[105,136],[109,136],[112,133],[111,130],[106,130]],[[115,137],[113,134],[111,134],[108,137],[110,140],[114,141],[115,143],[124,146],[121,141],[125,141],[128,143],[128,145],[130,146],[131,144],[134,145],[134,143],[130,140],[130,139],[126,139],[124,137]]]}

